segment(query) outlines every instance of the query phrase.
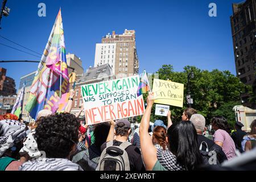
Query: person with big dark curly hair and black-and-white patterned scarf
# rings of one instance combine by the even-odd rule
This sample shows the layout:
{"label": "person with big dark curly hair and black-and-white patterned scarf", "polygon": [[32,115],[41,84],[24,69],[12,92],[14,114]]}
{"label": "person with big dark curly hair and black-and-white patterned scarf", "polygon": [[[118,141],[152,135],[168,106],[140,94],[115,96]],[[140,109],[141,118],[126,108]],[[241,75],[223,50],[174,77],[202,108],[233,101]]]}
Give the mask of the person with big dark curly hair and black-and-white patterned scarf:
{"label": "person with big dark curly hair and black-and-white patterned scarf", "polygon": [[46,155],[19,167],[20,171],[82,171],[69,158],[76,152],[80,123],[73,114],[60,113],[40,119],[34,134],[38,150]]}

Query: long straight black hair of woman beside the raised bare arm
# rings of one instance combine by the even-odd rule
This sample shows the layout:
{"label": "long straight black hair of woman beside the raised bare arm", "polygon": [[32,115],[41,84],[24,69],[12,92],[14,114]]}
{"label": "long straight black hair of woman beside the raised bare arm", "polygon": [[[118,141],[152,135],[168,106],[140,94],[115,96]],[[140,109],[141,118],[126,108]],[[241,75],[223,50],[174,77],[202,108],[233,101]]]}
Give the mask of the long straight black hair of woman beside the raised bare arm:
{"label": "long straight black hair of woman beside the raised bare arm", "polygon": [[203,164],[197,144],[195,126],[191,121],[175,122],[167,131],[170,151],[177,162],[187,170],[193,170]]}

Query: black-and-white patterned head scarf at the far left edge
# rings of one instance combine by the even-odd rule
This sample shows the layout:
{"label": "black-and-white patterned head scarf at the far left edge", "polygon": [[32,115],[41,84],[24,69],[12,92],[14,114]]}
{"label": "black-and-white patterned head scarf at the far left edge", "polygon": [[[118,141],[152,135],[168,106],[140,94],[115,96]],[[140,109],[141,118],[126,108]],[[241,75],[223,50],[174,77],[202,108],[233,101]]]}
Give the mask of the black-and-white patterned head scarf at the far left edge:
{"label": "black-and-white patterned head scarf at the far left edge", "polygon": [[26,137],[26,125],[11,119],[0,121],[0,156]]}

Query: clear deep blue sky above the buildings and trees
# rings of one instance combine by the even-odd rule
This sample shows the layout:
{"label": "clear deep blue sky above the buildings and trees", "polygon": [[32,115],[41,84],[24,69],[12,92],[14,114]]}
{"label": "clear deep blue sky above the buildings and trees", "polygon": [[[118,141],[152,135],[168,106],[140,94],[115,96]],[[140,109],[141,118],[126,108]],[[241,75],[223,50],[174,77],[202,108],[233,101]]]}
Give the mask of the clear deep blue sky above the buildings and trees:
{"label": "clear deep blue sky above the buildings and trees", "polygon": [[[0,0],[0,2],[2,2]],[[46,17],[38,16],[38,4],[46,3]],[[217,5],[217,17],[208,16],[208,5]],[[200,69],[229,70],[236,75],[230,15],[232,3],[219,1],[71,1],[8,0],[10,15],[2,18],[0,35],[36,52],[43,52],[61,7],[67,53],[81,57],[86,70],[94,63],[95,44],[102,36],[125,28],[136,31],[140,72],[155,72],[163,64],[175,71],[185,65]],[[0,38],[0,43],[19,48]],[[26,50],[25,50],[26,51]],[[38,57],[0,45],[0,60],[39,60]],[[1,63],[16,88],[20,77],[35,71],[37,63]]]}

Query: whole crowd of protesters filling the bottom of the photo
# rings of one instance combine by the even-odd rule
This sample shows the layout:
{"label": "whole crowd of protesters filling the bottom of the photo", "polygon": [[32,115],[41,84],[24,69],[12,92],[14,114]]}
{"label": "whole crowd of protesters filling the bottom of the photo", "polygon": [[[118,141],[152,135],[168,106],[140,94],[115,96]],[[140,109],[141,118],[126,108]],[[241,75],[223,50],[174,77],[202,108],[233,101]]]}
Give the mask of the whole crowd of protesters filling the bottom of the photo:
{"label": "whole crowd of protesters filling the bottom of the photo", "polygon": [[[71,97],[74,92],[72,91]],[[25,123],[14,114],[0,116],[0,171],[187,171],[246,169],[256,161],[256,120],[250,133],[236,123],[231,133],[222,116],[210,121],[213,140],[204,136],[205,118],[187,108],[180,122],[156,120],[150,125],[153,94],[141,124],[134,132],[127,119],[86,125],[70,114],[39,111],[36,121]],[[167,126],[164,125],[167,122]],[[133,134],[132,134],[133,133]],[[250,168],[249,167],[249,168]]]}

